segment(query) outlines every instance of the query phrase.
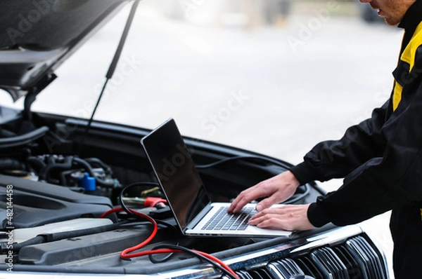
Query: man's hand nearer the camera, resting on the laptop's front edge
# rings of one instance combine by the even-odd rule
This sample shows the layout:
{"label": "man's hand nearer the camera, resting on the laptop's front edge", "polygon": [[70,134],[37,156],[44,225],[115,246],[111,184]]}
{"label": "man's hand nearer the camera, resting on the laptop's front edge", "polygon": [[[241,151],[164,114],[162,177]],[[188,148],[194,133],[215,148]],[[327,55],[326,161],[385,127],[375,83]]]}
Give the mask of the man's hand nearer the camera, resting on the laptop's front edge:
{"label": "man's hand nearer the camera, resting on the laptop's front edge", "polygon": [[258,212],[249,224],[262,229],[282,229],[285,231],[306,231],[314,229],[307,218],[307,205],[283,205]]}

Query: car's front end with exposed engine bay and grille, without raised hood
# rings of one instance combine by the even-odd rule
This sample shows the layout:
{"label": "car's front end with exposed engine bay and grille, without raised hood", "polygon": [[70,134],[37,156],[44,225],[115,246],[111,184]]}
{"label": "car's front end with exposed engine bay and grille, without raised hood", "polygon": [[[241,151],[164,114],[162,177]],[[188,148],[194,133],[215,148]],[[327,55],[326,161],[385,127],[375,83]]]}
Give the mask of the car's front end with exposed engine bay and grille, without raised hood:
{"label": "car's front end with exposed engine bay and grille, without raised hood", "polygon": [[[0,139],[5,271],[309,279],[331,274],[323,262],[332,258],[338,262],[331,266],[344,266],[338,274],[359,269],[363,276],[366,264],[376,268],[367,278],[387,278],[383,254],[357,226],[275,238],[184,236],[140,146],[148,130],[94,122],[87,132],[84,120],[34,114],[27,123],[19,111],[7,112],[13,117],[3,118]],[[250,151],[184,141],[212,202],[229,202],[290,166]],[[305,184],[285,203],[310,203],[322,193]],[[219,259],[236,273],[227,273]]]}

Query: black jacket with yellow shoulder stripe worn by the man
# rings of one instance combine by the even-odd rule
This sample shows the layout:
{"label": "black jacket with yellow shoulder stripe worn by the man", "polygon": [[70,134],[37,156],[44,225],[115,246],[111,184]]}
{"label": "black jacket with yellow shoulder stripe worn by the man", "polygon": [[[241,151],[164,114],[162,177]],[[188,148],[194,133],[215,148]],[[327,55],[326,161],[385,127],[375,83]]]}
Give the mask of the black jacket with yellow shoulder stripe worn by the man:
{"label": "black jacket with yellow shoulder stripe worn by the man", "polygon": [[[301,184],[343,178],[337,191],[309,206],[314,226],[355,224],[422,201],[422,1],[404,15],[395,86],[371,118],[341,140],[317,144],[290,170]],[[362,50],[364,51],[364,50]]]}

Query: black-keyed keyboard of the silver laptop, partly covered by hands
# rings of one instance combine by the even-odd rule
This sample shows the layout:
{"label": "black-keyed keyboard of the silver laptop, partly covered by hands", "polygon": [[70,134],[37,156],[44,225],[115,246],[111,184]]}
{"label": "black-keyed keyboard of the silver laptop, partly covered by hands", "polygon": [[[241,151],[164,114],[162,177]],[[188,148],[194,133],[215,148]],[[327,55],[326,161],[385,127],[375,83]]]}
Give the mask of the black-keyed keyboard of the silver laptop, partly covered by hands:
{"label": "black-keyed keyboard of the silver laptop, partly covered by hands", "polygon": [[203,230],[245,231],[249,219],[257,213],[253,207],[243,209],[236,214],[228,213],[229,207],[220,207],[215,215],[203,226]]}

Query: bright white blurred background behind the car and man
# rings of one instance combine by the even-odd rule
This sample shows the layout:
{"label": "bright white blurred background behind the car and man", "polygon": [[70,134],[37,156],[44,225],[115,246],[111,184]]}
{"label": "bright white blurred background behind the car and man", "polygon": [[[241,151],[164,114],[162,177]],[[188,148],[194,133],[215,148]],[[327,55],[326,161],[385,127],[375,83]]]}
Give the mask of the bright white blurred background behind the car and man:
{"label": "bright white blurred background behind the car and man", "polygon": [[[35,111],[91,116],[129,8],[56,71]],[[388,99],[401,39],[358,1],[143,0],[94,118],[155,128],[172,117],[183,135],[300,163]],[[388,218],[363,226],[390,262]]]}

